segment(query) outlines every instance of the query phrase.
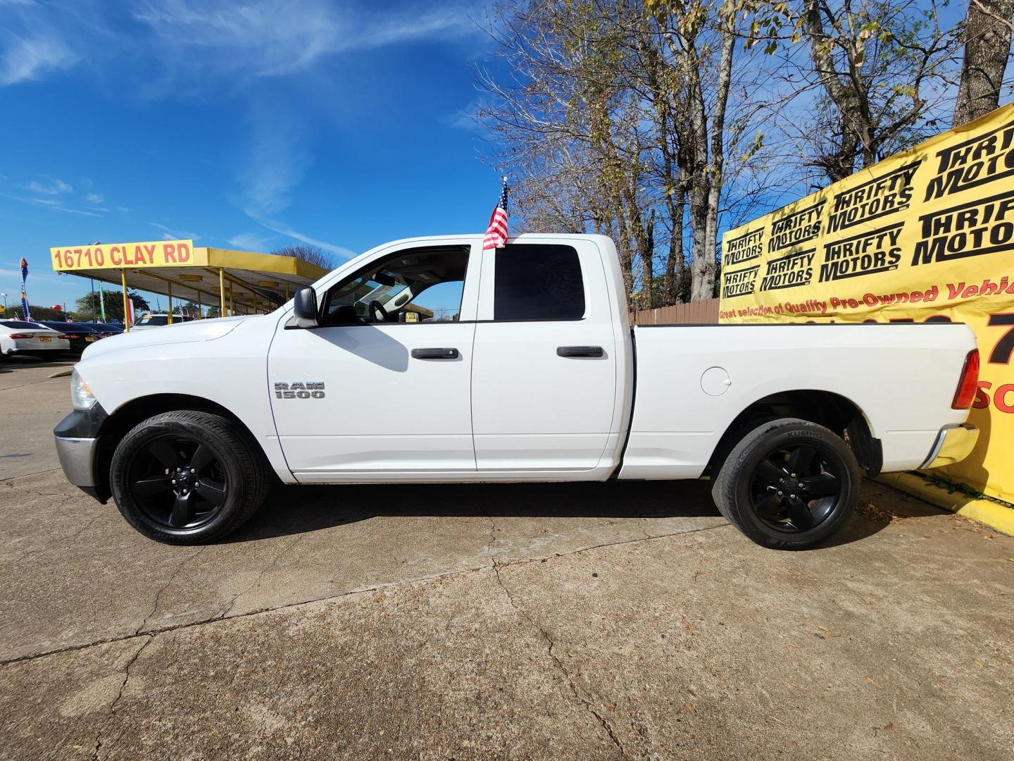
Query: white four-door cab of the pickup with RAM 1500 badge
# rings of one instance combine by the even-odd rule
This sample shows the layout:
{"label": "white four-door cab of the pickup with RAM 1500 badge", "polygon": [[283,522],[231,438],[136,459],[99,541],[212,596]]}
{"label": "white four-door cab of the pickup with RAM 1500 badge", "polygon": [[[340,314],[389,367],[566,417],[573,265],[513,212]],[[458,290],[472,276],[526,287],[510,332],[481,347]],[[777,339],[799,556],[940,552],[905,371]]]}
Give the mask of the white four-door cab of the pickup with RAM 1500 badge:
{"label": "white four-door cab of the pickup with RAM 1500 badge", "polygon": [[[632,362],[627,315],[612,307],[619,266],[602,266],[617,261],[611,241],[480,247],[391,244],[313,288],[315,324],[284,322],[268,374],[297,480],[583,480],[617,467]],[[438,316],[406,322],[427,304]],[[286,394],[307,383],[325,388]],[[349,405],[366,393],[372,403]],[[322,431],[321,419],[340,424]]]}

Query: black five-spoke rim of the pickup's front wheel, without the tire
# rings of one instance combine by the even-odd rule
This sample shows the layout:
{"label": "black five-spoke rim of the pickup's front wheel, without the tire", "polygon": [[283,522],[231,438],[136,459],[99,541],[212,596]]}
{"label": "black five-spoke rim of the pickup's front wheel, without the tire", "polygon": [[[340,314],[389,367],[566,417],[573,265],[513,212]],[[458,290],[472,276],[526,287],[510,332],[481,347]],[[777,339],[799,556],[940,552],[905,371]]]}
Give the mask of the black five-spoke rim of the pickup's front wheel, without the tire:
{"label": "black five-spoke rim of the pickup's front wheel, without the tire", "polygon": [[228,498],[228,475],[219,456],[193,436],[155,438],[129,468],[138,507],[166,529],[198,529],[213,521]]}

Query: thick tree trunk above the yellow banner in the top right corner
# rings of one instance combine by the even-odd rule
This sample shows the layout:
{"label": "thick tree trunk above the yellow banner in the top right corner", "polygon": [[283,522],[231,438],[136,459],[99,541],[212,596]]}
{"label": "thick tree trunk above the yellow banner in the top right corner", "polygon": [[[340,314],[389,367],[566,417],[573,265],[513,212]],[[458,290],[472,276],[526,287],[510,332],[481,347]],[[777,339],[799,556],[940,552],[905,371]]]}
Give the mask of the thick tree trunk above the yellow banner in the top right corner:
{"label": "thick tree trunk above the yellow banner in the top right corner", "polygon": [[997,108],[1014,26],[1014,0],[969,0],[964,20],[964,59],[953,126]]}

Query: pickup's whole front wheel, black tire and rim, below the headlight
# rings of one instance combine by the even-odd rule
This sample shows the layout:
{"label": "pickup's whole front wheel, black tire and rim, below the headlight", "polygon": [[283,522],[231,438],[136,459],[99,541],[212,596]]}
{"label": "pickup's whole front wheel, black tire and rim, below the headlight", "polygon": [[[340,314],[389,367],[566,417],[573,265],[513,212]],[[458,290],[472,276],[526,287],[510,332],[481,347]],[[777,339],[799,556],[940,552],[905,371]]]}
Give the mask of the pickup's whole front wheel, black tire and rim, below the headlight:
{"label": "pickup's whole front wheel, black tire and rim, below the headlight", "polygon": [[113,455],[110,482],[131,526],[165,544],[206,544],[264,503],[268,464],[238,423],[207,412],[164,412],[134,426]]}

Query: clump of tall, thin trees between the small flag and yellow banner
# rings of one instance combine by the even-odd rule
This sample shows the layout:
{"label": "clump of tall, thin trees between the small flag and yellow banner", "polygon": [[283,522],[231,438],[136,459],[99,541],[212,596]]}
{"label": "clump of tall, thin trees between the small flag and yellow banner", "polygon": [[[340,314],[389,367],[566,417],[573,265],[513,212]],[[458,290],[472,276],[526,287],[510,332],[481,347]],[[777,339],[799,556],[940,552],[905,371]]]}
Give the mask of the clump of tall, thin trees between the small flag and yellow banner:
{"label": "clump of tall, thin trees between the small flag and yellow banner", "polygon": [[611,235],[636,307],[713,295],[727,151],[745,133],[728,115],[742,8],[531,0],[494,12],[509,74],[480,72],[480,118],[518,176],[518,208],[529,225]]}

